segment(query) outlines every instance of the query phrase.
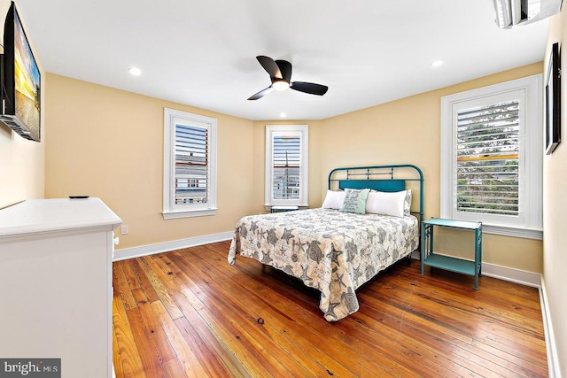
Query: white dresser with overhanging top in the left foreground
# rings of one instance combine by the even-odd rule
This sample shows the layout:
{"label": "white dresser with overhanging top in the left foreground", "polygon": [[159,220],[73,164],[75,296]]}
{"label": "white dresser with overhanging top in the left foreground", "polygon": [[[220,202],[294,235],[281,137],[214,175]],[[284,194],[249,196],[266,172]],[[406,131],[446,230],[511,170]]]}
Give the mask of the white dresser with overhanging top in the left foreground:
{"label": "white dresser with overhanging top in the left foreground", "polygon": [[113,229],[100,199],[0,210],[0,358],[61,359],[61,376],[112,377]]}

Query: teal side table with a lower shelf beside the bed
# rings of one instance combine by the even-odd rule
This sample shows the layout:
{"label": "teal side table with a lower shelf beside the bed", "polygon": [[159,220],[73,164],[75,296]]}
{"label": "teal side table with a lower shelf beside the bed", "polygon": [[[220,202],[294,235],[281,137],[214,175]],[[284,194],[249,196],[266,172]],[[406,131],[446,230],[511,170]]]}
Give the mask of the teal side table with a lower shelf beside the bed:
{"label": "teal side table with a lower shelf beside the bed", "polygon": [[[475,233],[475,259],[474,261],[462,258],[452,258],[438,255],[433,252],[433,228],[440,226],[445,228],[458,228],[474,231]],[[451,272],[474,275],[475,290],[478,290],[478,276],[481,274],[482,264],[482,223],[466,220],[447,220],[442,218],[431,218],[422,222],[421,241],[421,264],[422,275],[424,266],[434,266]]]}

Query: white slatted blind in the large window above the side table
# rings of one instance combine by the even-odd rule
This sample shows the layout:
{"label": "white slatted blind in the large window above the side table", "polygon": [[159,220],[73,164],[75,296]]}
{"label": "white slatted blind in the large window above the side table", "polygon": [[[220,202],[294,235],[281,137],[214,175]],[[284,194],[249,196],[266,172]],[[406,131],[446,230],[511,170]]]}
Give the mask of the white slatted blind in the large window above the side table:
{"label": "white slatted blind in the large window above the side table", "polygon": [[457,211],[517,216],[519,100],[457,112]]}

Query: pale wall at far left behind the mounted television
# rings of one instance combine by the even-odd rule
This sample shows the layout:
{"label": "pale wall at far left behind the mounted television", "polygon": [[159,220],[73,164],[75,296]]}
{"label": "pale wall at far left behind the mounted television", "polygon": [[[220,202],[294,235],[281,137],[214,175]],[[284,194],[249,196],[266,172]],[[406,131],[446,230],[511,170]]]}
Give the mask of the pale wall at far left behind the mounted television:
{"label": "pale wall at far left behind the mounted television", "polygon": [[[0,19],[5,18],[10,1],[0,0]],[[24,29],[26,15],[19,15]],[[4,23],[2,23],[4,25]],[[4,28],[0,28],[0,40],[4,39]],[[30,41],[32,50],[34,42]],[[45,71],[41,61],[35,57],[42,74],[42,97],[45,93]],[[43,198],[45,135],[45,105],[41,120],[42,142],[28,141],[10,127],[0,123],[0,208],[30,198]]]}

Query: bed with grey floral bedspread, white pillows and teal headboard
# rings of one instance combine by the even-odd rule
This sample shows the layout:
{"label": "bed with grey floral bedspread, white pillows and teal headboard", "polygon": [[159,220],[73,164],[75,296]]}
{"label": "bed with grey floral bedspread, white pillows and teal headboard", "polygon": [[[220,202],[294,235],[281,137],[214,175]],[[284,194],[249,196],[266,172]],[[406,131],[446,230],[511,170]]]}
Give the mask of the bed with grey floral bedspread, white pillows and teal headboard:
{"label": "bed with grey floral bedspread, white pillows and teal headboard", "polygon": [[337,168],[321,208],[238,220],[228,261],[254,258],[299,278],[321,291],[324,318],[341,320],[359,309],[356,289],[418,250],[422,220],[417,166]]}

